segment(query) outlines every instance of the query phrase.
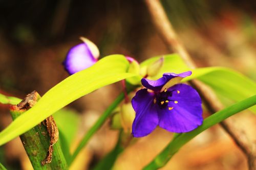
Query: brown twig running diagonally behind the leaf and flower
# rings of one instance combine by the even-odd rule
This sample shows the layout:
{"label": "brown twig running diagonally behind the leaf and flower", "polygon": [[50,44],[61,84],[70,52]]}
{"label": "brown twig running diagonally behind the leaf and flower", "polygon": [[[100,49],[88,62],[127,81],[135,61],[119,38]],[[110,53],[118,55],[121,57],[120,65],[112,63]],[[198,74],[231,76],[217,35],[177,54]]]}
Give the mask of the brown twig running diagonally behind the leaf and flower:
{"label": "brown twig running diagonally behind the leaf and flower", "polygon": [[[152,15],[154,25],[156,26],[160,36],[164,40],[165,44],[170,51],[178,53],[185,63],[190,68],[196,68],[195,63],[191,60],[191,57],[187,53],[185,47],[179,41],[175,30],[172,27],[172,24],[169,22],[162,5],[159,0],[145,0],[146,6]],[[218,100],[214,91],[211,88],[203,84],[198,80],[191,80],[189,82],[202,96],[208,110],[211,114],[221,110],[223,105]],[[248,160],[248,167],[250,170],[255,170],[255,156],[251,151],[251,145],[247,141],[244,141],[241,138],[241,132],[239,132],[232,125],[231,119],[225,120],[220,123],[222,128],[229,134],[229,136],[236,142],[238,147],[246,155]]]}

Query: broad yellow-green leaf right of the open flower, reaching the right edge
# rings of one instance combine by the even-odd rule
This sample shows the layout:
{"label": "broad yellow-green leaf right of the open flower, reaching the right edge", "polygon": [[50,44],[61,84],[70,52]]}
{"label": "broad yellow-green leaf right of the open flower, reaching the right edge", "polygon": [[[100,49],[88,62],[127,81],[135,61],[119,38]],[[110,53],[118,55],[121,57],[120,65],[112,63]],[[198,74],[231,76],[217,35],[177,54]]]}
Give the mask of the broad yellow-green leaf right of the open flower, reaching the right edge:
{"label": "broad yellow-green leaf right of the open flower, reaching the right edge", "polygon": [[[237,71],[224,67],[198,68],[184,81],[198,78],[215,90],[225,106],[256,94],[256,83]],[[233,103],[232,102],[232,103]],[[250,108],[256,113],[256,106]]]}

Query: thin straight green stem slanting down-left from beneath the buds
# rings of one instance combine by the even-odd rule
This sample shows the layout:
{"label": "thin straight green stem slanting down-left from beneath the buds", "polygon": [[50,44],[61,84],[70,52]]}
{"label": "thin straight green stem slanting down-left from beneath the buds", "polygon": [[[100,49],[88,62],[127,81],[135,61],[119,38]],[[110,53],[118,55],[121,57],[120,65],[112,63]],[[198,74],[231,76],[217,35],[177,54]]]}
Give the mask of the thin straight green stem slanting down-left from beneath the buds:
{"label": "thin straight green stem slanting down-left from beneath the buds", "polygon": [[71,157],[71,161],[69,164],[71,164],[76,156],[79,154],[79,152],[82,150],[82,148],[87,144],[89,139],[94,135],[94,133],[103,125],[105,120],[109,117],[109,115],[113,112],[113,110],[120,104],[120,102],[124,99],[124,94],[121,93],[118,95],[116,100],[108,107],[108,109],[105,110],[105,112],[99,117],[97,122],[89,129],[86,135],[83,136],[81,142],[79,143],[78,147],[76,148],[74,154]]}

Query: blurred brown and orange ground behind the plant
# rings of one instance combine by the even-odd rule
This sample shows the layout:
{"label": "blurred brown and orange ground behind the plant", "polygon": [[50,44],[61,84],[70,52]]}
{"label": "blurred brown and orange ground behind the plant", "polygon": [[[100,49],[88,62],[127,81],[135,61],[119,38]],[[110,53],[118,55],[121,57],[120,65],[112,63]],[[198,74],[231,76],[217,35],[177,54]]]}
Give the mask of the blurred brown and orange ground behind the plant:
{"label": "blurred brown and orange ground behind the plant", "polygon": [[[166,0],[162,5],[181,42],[199,67],[226,66],[256,80],[256,2]],[[123,54],[139,62],[171,53],[158,35],[144,1],[4,1],[0,0],[0,92],[24,98],[43,95],[69,75],[62,61],[80,36],[93,41],[100,56]],[[85,87],[86,88],[86,87]],[[81,121],[74,141],[121,91],[116,83],[73,102]],[[0,130],[10,124],[8,106],[0,105]],[[234,116],[238,129],[255,145],[256,118]],[[118,158],[114,169],[141,169],[172,138],[156,129]],[[88,169],[115,145],[117,132],[106,123],[73,164]],[[19,139],[0,147],[8,169],[31,169]],[[246,169],[246,158],[217,125],[203,132],[162,169]]]}

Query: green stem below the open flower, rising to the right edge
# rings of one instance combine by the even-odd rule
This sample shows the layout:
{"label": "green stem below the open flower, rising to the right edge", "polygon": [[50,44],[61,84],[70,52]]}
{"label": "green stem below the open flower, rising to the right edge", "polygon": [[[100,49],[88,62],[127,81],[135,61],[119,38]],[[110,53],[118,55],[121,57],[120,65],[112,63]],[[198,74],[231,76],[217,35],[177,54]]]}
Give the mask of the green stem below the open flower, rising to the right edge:
{"label": "green stem below the open flower, rising to the right edge", "polygon": [[251,96],[241,102],[238,102],[232,106],[229,106],[221,111],[212,114],[211,116],[207,117],[202,126],[198,127],[194,131],[188,133],[182,133],[174,138],[170,143],[165,147],[165,149],[155,157],[153,161],[147,164],[143,169],[158,169],[163,167],[173,155],[179,151],[179,149],[186,144],[189,140],[193,139],[195,136],[203,132],[204,130],[220,123],[224,119],[243,111],[249,107],[252,107],[256,104],[256,95]]}

